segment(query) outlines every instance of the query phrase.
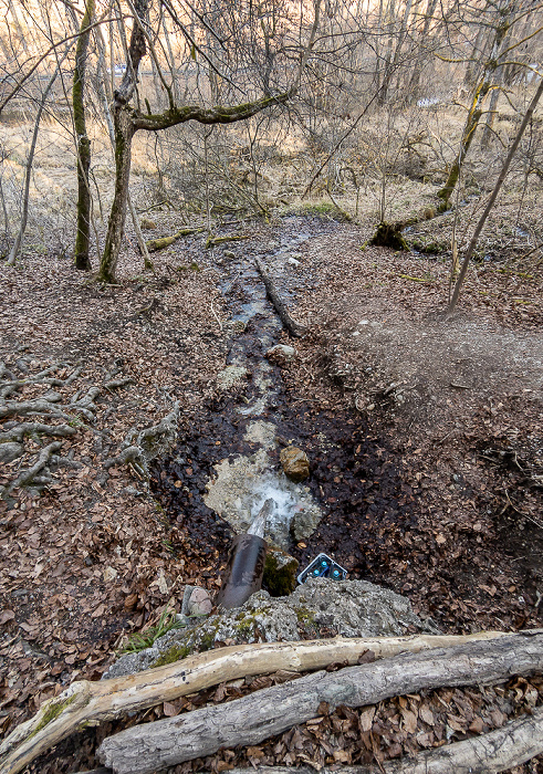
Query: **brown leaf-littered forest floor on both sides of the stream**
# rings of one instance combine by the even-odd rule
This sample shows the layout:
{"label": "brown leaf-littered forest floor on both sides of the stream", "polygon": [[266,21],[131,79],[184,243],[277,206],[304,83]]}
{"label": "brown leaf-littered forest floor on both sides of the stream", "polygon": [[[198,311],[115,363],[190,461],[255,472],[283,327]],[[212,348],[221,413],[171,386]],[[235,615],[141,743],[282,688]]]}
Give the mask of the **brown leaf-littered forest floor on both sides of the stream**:
{"label": "brown leaf-littered forest floor on both sides of the stream", "polygon": [[[282,367],[283,421],[285,432],[297,428],[312,487],[330,513],[292,553],[303,563],[326,550],[352,577],[405,594],[443,631],[543,626],[541,266],[474,264],[446,321],[445,262],[364,248],[363,227],[337,223],[324,234],[311,221],[292,269],[300,293],[291,311],[307,332]],[[164,232],[175,227],[168,216]],[[156,425],[175,400],[187,437],[224,401],[217,375],[231,325],[218,286],[280,230],[280,220],[250,224],[230,263],[223,249],[203,250],[202,237],[157,253],[154,273],[143,274],[140,259],[127,253],[116,286],[90,282],[69,261],[43,254],[3,271],[0,359],[12,377],[58,365],[69,379],[81,365],[58,388],[63,404],[100,388],[94,419],[72,423],[76,433],[62,441],[67,461],[41,496],[15,490],[0,505],[3,733],[72,680],[98,679],[129,632],[156,624],[168,605],[178,609],[185,584],[220,583],[228,532],[217,534],[215,546],[212,534],[195,538],[190,523],[169,517],[167,498],[153,496],[127,467],[106,471],[104,462],[133,428]],[[130,381],[105,387],[114,373]],[[46,389],[29,383],[18,399]],[[220,433],[206,440],[224,443]],[[29,442],[0,484],[39,449]],[[184,475],[196,473],[187,468]],[[228,690],[238,695],[249,687]],[[340,710],[320,736],[302,726],[179,771],[380,761],[497,728],[543,700],[537,679],[500,690],[383,702],[362,724],[362,711]],[[211,691],[146,718],[218,700]],[[448,714],[438,717],[439,703]],[[366,721],[376,724],[378,749],[375,738],[355,734]],[[96,740],[111,730],[67,740],[31,771],[93,765]]]}

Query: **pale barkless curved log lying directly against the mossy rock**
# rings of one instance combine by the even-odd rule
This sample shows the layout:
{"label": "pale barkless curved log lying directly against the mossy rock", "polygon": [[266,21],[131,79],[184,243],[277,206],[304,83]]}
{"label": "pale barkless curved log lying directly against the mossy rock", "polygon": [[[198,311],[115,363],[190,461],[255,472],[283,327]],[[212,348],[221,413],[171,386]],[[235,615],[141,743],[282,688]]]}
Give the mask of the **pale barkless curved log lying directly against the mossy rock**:
{"label": "pale barkless curved log lying directly against the mossy rock", "polygon": [[[59,697],[42,704],[0,744],[0,774],[17,774],[40,753],[84,725],[121,718],[127,712],[173,701],[181,695],[241,677],[286,669],[295,672],[323,669],[330,663],[357,663],[362,652],[376,658],[419,652],[462,642],[495,640],[503,631],[477,635],[417,635],[413,637],[342,638],[304,642],[240,645],[189,656],[182,661],[147,669],[127,677],[73,682]],[[522,641],[522,635],[516,635]],[[230,707],[230,704],[229,704]]]}

